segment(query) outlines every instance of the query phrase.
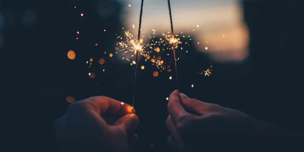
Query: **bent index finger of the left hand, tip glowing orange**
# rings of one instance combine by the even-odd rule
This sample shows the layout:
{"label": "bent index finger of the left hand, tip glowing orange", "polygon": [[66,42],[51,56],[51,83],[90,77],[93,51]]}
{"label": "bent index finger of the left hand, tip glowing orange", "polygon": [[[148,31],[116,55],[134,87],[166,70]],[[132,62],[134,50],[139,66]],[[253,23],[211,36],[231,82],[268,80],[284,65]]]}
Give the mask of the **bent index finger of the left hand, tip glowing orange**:
{"label": "bent index finger of the left hand, tip glowing orange", "polygon": [[[100,115],[106,113],[124,116],[128,113],[132,113],[131,105],[105,96],[87,98],[84,102]],[[135,113],[135,109],[133,111],[133,113]]]}

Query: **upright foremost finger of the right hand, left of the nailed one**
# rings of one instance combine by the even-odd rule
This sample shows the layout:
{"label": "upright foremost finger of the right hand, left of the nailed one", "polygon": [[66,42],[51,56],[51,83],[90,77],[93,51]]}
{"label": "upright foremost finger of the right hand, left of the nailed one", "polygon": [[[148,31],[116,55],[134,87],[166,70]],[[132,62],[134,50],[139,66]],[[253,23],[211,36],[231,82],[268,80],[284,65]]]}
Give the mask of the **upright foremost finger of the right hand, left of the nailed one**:
{"label": "upright foremost finger of the right hand, left of the nailed one", "polygon": [[178,90],[175,90],[169,96],[168,112],[170,113],[170,115],[175,123],[178,121],[179,118],[181,118],[187,114],[187,112],[181,105]]}

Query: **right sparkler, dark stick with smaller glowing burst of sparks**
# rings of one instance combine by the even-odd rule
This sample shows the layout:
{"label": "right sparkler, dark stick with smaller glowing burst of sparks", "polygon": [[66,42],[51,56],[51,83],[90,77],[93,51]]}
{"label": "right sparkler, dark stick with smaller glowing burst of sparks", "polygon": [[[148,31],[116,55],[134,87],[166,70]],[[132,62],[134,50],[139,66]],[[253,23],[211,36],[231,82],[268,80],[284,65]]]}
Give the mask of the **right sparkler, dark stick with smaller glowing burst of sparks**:
{"label": "right sparkler, dark stick with smaller glowing burst of sparks", "polygon": [[171,33],[172,33],[172,35],[171,35],[171,37],[167,36],[166,40],[171,45],[171,49],[173,50],[174,64],[175,64],[175,75],[176,75],[176,86],[177,86],[177,90],[179,92],[179,89],[178,89],[178,77],[177,77],[177,66],[176,66],[176,61],[177,60],[176,60],[175,49],[178,48],[178,44],[180,44],[181,42],[179,41],[179,38],[178,39],[174,38],[170,0],[168,0],[168,7],[169,7],[169,15],[170,15],[170,23],[171,23]]}

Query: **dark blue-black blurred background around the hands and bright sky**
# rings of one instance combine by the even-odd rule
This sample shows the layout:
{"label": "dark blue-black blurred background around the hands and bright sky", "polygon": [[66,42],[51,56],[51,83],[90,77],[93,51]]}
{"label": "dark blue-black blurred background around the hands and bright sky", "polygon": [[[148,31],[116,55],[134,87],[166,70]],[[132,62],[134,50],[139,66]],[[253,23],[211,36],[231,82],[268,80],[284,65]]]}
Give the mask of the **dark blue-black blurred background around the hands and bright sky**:
{"label": "dark blue-black blurred background around the hands and bright sky", "polygon": [[[180,91],[301,131],[302,4],[257,0],[242,2],[242,6],[250,34],[249,57],[242,62],[213,62],[212,76],[204,77],[197,71],[202,65],[208,67],[210,59],[190,46],[194,51],[179,54],[183,59],[178,61]],[[9,131],[8,141],[20,140],[22,149],[58,151],[53,122],[70,104],[67,95],[76,101],[105,95],[132,103],[134,66],[109,57],[115,53],[115,34],[123,27],[121,7],[106,0],[0,1],[3,95],[8,96],[5,103],[13,107],[3,106],[9,120],[5,126],[14,129]],[[100,11],[105,8],[115,13]],[[76,52],[75,60],[67,58],[68,50]],[[93,65],[88,68],[85,62],[91,57]],[[104,65],[98,64],[101,57],[106,60]],[[145,70],[137,75],[135,108],[140,124],[136,130],[139,143],[134,149],[168,150],[165,98],[176,89],[174,70],[153,77],[156,70],[149,64],[143,63]],[[88,72],[95,72],[96,77],[89,78]]]}

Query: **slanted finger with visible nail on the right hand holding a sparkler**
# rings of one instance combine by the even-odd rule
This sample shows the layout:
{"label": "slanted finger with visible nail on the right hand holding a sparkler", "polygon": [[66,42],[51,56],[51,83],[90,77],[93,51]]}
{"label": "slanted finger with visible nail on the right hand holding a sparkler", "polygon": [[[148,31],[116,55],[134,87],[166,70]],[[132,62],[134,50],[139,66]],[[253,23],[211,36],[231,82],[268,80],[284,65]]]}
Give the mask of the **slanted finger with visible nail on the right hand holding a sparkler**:
{"label": "slanted finger with visible nail on the right hand holding a sparkler", "polygon": [[196,99],[189,98],[187,95],[180,93],[180,99],[182,105],[188,112],[195,113],[197,115],[206,114],[209,103],[202,102]]}

